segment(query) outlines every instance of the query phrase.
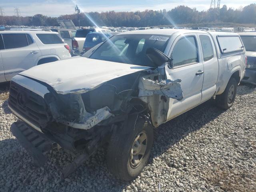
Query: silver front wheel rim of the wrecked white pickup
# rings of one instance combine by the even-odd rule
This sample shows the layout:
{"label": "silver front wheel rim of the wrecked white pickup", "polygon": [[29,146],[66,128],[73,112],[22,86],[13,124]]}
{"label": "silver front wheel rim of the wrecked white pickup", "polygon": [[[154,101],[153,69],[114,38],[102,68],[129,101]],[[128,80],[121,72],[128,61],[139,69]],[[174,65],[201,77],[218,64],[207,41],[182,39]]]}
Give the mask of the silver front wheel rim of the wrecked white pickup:
{"label": "silver front wheel rim of the wrecked white pickup", "polygon": [[136,168],[141,164],[146,152],[147,143],[147,135],[144,131],[140,132],[134,139],[129,159],[132,168]]}

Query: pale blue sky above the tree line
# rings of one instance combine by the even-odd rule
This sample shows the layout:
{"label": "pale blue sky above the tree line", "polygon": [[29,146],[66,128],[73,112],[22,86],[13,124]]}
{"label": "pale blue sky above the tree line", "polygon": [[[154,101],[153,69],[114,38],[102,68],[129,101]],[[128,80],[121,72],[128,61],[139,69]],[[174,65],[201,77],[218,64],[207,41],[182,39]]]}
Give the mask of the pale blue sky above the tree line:
{"label": "pale blue sky above the tree line", "polygon": [[[216,0],[217,2],[218,0]],[[211,0],[0,0],[0,6],[4,8],[4,15],[14,15],[14,8],[20,9],[21,16],[44,14],[47,16],[59,16],[74,13],[75,4],[81,11],[142,11],[145,9],[171,10],[178,5],[186,5],[197,10],[207,10]],[[220,6],[239,8],[255,0],[221,0]]]}

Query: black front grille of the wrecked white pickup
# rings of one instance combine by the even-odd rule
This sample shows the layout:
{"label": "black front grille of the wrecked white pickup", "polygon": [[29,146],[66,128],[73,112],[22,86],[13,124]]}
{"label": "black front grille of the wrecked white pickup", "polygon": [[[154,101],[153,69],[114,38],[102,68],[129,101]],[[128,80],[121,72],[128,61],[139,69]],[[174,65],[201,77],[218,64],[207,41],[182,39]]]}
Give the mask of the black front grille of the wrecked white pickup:
{"label": "black front grille of the wrecked white pickup", "polygon": [[39,128],[46,126],[50,120],[44,99],[13,81],[10,83],[8,104],[23,118]]}

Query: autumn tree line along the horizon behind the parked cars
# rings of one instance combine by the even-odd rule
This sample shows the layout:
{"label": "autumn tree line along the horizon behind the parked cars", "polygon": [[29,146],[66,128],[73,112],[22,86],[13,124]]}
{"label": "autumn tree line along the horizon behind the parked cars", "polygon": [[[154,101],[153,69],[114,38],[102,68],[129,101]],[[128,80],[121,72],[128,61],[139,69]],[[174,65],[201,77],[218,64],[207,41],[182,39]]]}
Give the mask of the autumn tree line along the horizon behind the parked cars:
{"label": "autumn tree line along the horizon behind the parked cars", "polygon": [[[176,24],[200,24],[214,22],[230,22],[240,24],[256,24],[256,4],[250,4],[239,9],[224,5],[219,10],[209,9],[198,11],[188,6],[177,6],[172,10],[145,10],[136,12],[89,12],[80,13],[81,26],[162,26]],[[67,14],[57,17],[36,14],[34,16],[0,16],[0,24],[25,26],[59,26],[58,20],[71,19],[78,26],[77,14]]]}

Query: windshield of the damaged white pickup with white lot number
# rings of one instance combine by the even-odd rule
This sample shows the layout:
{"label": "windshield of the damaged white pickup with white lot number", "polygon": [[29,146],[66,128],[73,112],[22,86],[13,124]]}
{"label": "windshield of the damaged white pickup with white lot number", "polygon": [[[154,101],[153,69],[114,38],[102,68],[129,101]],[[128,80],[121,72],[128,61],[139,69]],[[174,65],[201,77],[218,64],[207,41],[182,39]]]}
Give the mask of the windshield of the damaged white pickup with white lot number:
{"label": "windshield of the damaged white pickup with white lot number", "polygon": [[105,41],[89,58],[134,64],[154,66],[146,56],[147,48],[156,48],[164,52],[170,36],[152,34],[116,35]]}

